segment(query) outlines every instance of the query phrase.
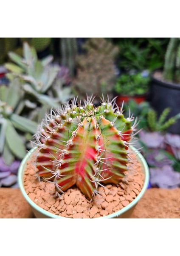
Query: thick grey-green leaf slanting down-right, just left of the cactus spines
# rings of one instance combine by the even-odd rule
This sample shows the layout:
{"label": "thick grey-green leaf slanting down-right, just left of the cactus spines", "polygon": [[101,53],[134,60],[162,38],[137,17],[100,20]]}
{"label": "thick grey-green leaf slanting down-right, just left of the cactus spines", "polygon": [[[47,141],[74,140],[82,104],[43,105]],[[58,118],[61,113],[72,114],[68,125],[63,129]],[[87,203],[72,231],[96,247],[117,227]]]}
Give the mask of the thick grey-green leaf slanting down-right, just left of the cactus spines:
{"label": "thick grey-green leaf slanting down-right, just left of the cactus spines", "polygon": [[18,116],[16,114],[11,115],[11,122],[15,128],[20,131],[30,132],[34,134],[37,131],[37,123],[31,121],[23,116]]}

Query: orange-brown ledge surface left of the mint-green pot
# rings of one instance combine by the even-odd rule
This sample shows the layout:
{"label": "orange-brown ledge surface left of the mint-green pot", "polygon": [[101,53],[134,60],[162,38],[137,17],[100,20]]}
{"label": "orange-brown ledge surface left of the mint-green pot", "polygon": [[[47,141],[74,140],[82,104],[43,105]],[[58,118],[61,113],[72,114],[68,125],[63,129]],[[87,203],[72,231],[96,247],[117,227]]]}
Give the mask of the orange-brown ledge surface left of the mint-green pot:
{"label": "orange-brown ledge surface left of the mint-green pot", "polygon": [[0,188],[0,218],[32,218],[33,212],[20,189]]}

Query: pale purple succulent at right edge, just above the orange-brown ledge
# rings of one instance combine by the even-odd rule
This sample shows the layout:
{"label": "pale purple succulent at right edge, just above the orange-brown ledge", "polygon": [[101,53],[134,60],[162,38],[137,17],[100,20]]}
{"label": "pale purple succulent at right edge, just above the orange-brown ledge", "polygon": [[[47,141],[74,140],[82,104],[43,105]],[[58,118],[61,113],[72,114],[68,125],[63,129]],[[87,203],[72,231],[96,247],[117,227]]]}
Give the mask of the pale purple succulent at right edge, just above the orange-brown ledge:
{"label": "pale purple succulent at right edge, just above the orange-brown ledge", "polygon": [[175,172],[172,166],[165,165],[162,168],[150,168],[150,183],[159,188],[180,187],[180,172]]}

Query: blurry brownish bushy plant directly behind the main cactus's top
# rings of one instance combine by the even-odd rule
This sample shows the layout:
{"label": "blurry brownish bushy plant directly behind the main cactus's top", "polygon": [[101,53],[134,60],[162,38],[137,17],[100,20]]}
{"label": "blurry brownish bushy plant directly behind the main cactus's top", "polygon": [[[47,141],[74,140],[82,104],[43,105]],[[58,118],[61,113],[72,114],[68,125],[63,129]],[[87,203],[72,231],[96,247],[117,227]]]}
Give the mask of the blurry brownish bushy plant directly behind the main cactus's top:
{"label": "blurry brownish bushy plant directly behind the main cactus's top", "polygon": [[84,98],[86,94],[112,93],[116,80],[115,56],[118,47],[104,38],[89,38],[83,48],[86,55],[76,57],[77,75],[73,80],[76,93]]}

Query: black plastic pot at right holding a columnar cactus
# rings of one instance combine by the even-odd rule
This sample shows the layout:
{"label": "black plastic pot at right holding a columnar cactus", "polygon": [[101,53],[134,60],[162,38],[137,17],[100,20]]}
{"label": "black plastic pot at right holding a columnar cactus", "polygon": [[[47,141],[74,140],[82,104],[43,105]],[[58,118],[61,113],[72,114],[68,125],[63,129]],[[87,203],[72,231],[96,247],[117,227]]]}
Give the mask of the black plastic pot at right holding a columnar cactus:
{"label": "black plastic pot at right holding a columnar cactus", "polygon": [[[157,111],[158,116],[165,108],[171,108],[168,118],[180,113],[180,84],[168,83],[160,81],[151,75],[151,105]],[[180,120],[172,125],[168,132],[180,134]]]}

